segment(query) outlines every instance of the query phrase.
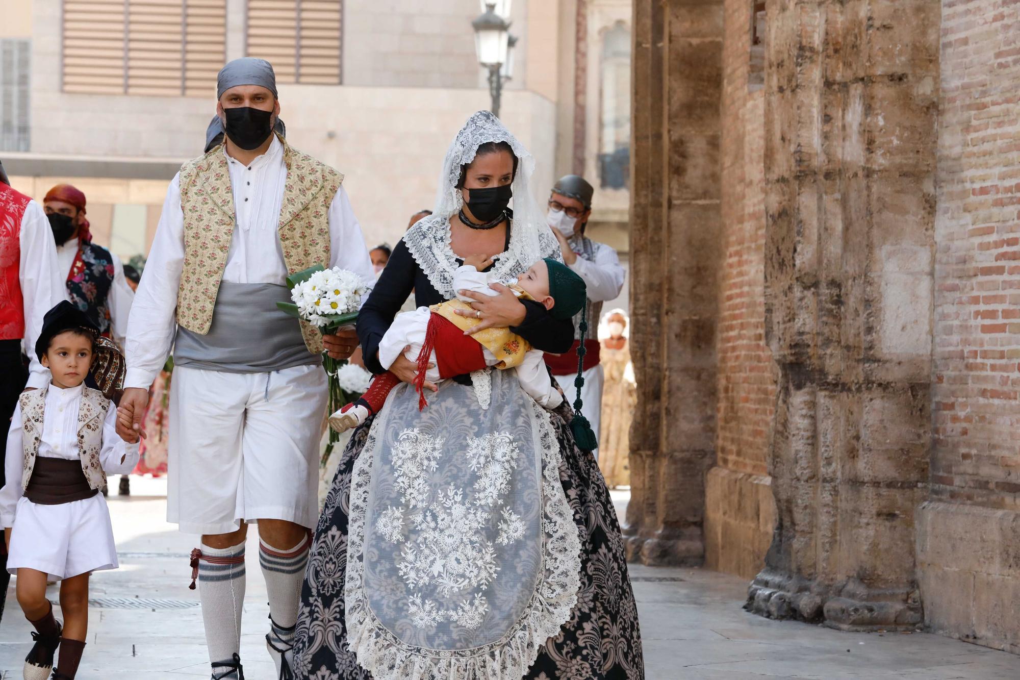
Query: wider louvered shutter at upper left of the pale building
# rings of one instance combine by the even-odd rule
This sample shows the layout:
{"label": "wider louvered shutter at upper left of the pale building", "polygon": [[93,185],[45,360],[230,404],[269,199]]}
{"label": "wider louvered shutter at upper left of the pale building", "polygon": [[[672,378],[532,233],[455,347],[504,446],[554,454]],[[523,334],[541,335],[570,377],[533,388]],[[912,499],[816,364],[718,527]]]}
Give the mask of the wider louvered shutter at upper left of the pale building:
{"label": "wider louvered shutter at upper left of the pale building", "polygon": [[65,92],[206,96],[226,0],[64,0],[63,31]]}

